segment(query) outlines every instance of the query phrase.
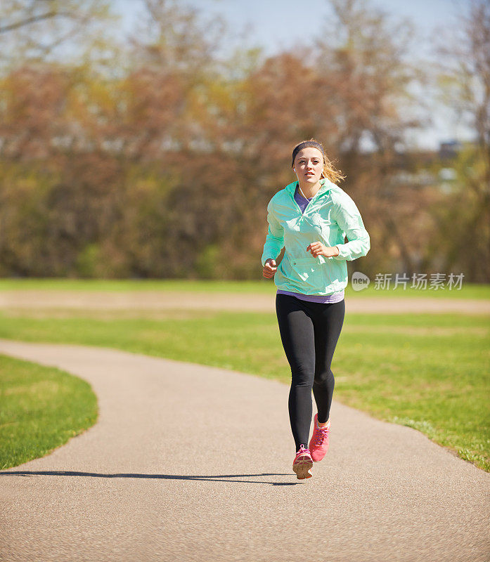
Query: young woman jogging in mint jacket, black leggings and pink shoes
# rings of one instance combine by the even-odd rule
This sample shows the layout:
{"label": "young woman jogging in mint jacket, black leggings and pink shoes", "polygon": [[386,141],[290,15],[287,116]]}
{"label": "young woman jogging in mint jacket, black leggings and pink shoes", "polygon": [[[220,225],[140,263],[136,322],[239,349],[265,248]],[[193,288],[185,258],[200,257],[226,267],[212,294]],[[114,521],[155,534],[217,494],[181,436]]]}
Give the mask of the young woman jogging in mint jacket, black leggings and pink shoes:
{"label": "young woman jogging in mint jacket, black leggings and pink shoes", "polygon": [[[274,195],[267,206],[264,277],[278,287],[276,313],[291,367],[289,416],[297,478],[311,478],[313,462],[328,450],[334,377],[333,352],[344,322],[347,263],[366,256],[369,235],[354,201],[333,183],[343,179],[311,139],[292,151],[297,181]],[[347,243],[344,237],[347,236]],[[283,259],[276,263],[281,249]],[[311,425],[311,389],[318,413]]]}

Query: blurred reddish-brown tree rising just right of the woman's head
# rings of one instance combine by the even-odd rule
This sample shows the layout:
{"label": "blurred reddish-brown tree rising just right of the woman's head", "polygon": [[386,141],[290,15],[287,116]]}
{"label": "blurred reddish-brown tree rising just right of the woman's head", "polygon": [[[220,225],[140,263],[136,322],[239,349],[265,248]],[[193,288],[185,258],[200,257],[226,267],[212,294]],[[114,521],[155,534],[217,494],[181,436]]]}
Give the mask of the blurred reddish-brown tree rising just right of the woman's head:
{"label": "blurred reddish-brown tree rising just right of the woman's head", "polygon": [[[366,267],[412,273],[423,240],[412,228],[420,193],[401,184],[406,131],[420,126],[411,109],[411,85],[423,78],[408,62],[413,28],[360,0],[330,0],[332,17],[316,45],[323,85],[318,133],[340,159],[345,189],[354,197],[371,235]],[[330,130],[327,124],[334,124]],[[394,265],[394,263],[396,265]],[[375,270],[370,271],[374,273]]]}

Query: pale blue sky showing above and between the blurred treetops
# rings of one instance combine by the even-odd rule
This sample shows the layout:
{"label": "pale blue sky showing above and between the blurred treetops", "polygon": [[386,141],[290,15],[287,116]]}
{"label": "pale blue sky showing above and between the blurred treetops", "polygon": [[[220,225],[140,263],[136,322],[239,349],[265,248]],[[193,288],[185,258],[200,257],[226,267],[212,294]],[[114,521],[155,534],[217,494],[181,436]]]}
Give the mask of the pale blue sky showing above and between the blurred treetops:
{"label": "pale blue sky showing above and between the blurred treetops", "polygon": [[[122,15],[122,28],[131,30],[138,13],[138,0],[112,0]],[[273,55],[295,44],[308,44],[321,34],[330,15],[325,0],[181,0],[198,8],[202,16],[221,15],[229,25],[226,39],[234,46],[261,46],[265,55]],[[470,0],[366,0],[366,6],[379,8],[395,22],[403,18],[413,22],[417,40],[413,43],[416,60],[434,60],[434,35],[455,27],[461,14],[467,13]],[[457,124],[447,111],[434,105],[434,123],[413,134],[411,141],[420,148],[436,149],[440,141],[465,140],[470,132]]]}

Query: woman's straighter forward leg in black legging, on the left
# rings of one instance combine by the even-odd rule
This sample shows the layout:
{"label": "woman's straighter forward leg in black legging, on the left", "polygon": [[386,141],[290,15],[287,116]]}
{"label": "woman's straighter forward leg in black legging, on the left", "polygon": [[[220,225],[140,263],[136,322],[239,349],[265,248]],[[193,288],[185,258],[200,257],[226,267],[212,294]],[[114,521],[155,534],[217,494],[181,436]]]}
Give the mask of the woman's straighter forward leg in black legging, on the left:
{"label": "woman's straighter forward leg in black legging, on the left", "polygon": [[308,448],[313,406],[311,386],[315,373],[314,327],[304,301],[278,294],[276,313],[281,341],[291,367],[289,417],[296,451],[303,443]]}

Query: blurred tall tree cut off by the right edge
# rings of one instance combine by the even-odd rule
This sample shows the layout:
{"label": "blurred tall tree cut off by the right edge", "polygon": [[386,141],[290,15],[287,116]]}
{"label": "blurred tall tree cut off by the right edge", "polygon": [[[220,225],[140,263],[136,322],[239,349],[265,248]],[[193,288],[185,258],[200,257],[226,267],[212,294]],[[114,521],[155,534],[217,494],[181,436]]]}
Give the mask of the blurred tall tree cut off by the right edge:
{"label": "blurred tall tree cut off by the right edge", "polygon": [[[460,268],[470,280],[490,280],[490,6],[473,0],[459,32],[444,37],[440,98],[474,133],[453,166],[456,193],[437,212],[437,251],[444,268]],[[459,186],[459,187],[458,187]],[[436,249],[434,248],[434,251]]]}

